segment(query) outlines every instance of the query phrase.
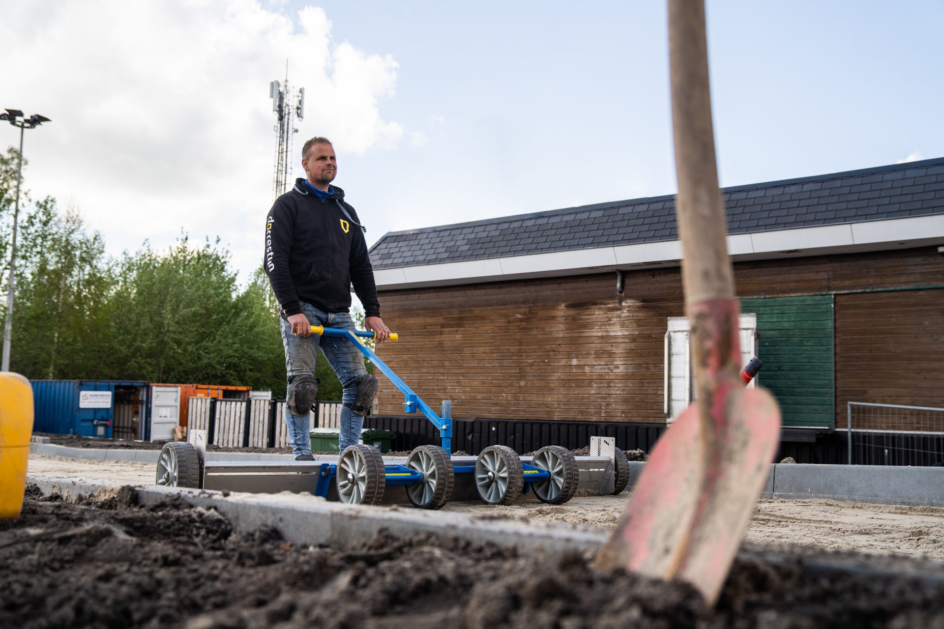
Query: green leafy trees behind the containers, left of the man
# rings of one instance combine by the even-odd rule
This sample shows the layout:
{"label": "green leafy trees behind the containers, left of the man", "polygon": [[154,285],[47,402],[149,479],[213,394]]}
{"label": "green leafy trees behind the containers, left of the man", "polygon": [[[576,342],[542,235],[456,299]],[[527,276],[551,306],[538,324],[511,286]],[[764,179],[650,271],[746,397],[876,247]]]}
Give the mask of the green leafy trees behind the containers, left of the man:
{"label": "green leafy trees behind the containers, left of the man", "polygon": [[[11,184],[14,149],[0,154],[0,254],[7,261]],[[278,302],[261,267],[240,287],[219,240],[196,244],[186,235],[167,250],[145,241],[133,254],[107,257],[101,235],[77,211],[61,211],[52,198],[24,198],[21,192],[13,371],[34,379],[247,385],[284,397]],[[319,399],[341,399],[323,355],[315,377]]]}

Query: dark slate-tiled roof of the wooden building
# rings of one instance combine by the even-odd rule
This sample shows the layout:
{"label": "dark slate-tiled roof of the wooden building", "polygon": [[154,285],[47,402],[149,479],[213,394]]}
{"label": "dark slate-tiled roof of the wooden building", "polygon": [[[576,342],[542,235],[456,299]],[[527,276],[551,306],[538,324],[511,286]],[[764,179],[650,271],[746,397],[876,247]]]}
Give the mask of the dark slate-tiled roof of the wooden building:
{"label": "dark slate-tiled roof of the wooden building", "polygon": [[[944,214],[944,157],[723,190],[728,232]],[[375,269],[678,240],[675,195],[390,232]]]}

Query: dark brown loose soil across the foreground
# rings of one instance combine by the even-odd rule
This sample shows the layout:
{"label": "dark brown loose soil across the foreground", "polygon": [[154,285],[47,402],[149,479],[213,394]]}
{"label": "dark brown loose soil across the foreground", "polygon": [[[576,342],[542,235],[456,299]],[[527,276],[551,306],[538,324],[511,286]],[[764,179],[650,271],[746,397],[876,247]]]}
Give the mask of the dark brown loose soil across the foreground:
{"label": "dark brown loose soil across the foreground", "polygon": [[[595,571],[582,555],[521,557],[429,535],[301,549],[271,528],[237,535],[215,511],[179,499],[140,506],[135,496],[123,488],[66,503],[28,488],[23,516],[0,521],[0,626],[944,624],[936,562],[749,549],[711,610],[684,584]],[[822,567],[824,555],[833,568]]]}

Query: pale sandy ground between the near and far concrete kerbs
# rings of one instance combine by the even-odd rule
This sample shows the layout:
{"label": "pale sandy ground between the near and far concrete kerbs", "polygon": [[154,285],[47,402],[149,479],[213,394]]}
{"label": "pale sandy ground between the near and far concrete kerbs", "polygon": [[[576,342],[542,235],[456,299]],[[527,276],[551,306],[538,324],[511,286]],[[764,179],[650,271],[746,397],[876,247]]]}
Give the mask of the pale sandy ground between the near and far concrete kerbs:
{"label": "pale sandy ground between the near and far concrete kerbs", "polygon": [[[110,481],[115,485],[151,485],[154,483],[155,465],[30,455],[29,473],[76,476]],[[623,512],[628,497],[628,493],[579,496],[566,505],[543,505],[532,496],[524,496],[512,506],[451,503],[444,510],[487,519],[550,521],[609,528]],[[831,500],[762,500],[754,511],[745,539],[765,544],[799,544],[875,555],[944,559],[944,508]]]}

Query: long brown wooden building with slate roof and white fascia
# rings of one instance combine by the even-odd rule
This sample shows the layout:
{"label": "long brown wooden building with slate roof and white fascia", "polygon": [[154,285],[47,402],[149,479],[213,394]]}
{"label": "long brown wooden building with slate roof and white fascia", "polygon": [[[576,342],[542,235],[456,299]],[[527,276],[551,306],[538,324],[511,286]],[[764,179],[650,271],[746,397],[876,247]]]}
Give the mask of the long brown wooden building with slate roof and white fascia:
{"label": "long brown wooden building with slate roof and white fascia", "polygon": [[[944,158],[723,192],[756,315],[742,336],[785,427],[841,429],[849,401],[944,406]],[[670,358],[687,350],[674,211],[668,195],[387,234],[371,260],[401,340],[379,355],[457,418],[664,426],[691,389]],[[379,415],[401,405],[381,378]]]}

